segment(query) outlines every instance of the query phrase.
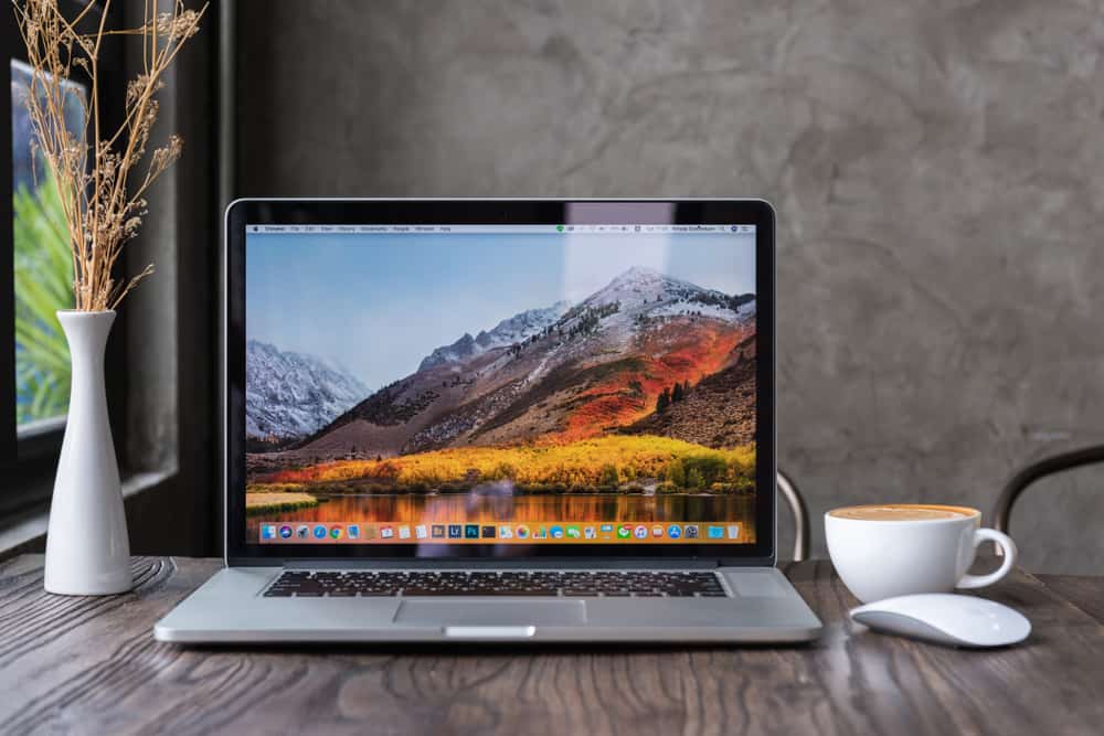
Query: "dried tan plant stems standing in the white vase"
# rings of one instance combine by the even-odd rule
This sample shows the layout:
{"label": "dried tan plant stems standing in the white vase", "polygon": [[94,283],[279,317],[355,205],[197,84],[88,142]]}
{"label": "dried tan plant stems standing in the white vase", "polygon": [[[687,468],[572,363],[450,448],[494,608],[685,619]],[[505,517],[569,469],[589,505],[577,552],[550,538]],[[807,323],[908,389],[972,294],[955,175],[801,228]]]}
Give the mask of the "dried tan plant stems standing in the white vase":
{"label": "dried tan plant stems standing in the white vase", "polygon": [[[123,246],[148,214],[146,191],[180,158],[183,141],[171,135],[163,146],[155,148],[137,186],[130,186],[130,172],[146,158],[158,116],[156,95],[164,86],[162,76],[184,42],[199,31],[208,6],[188,10],[183,0],[174,0],[172,12],[158,14],[156,0],[145,0],[140,28],[109,30],[106,22],[112,3],[105,0],[95,32],[82,34],[77,29],[94,9],[92,2],[71,20],[62,15],[57,0],[12,2],[33,70],[25,100],[35,134],[33,146],[53,174],[68,230],[75,307],[83,311],[115,309],[130,289],[153,273],[151,264],[127,280],[116,281],[113,275]],[[100,130],[99,108],[99,52],[108,35],[142,36],[142,73],[127,84],[124,120],[109,136]],[[67,82],[74,67],[87,77],[91,98],[88,103],[82,99],[78,134],[65,124],[65,103],[71,98]]]}

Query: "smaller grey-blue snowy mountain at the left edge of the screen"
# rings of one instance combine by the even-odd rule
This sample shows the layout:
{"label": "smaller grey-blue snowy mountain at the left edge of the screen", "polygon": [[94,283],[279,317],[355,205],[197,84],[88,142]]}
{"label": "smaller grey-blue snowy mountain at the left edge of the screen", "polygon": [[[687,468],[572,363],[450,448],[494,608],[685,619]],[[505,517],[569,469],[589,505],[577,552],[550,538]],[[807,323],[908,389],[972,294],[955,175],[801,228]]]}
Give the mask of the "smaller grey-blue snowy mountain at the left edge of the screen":
{"label": "smaller grey-blue snowy mountain at the left edge of the screen", "polygon": [[250,340],[245,354],[245,433],[280,440],[309,435],[369,395],[348,372],[314,355]]}

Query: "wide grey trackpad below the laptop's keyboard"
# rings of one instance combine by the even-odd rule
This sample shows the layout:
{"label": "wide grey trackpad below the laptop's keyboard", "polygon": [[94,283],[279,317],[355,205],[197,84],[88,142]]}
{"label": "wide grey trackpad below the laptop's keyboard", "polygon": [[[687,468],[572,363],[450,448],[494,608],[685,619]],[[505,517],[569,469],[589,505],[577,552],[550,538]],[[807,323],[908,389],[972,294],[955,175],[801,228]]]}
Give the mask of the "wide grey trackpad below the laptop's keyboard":
{"label": "wide grey trackpad below the laptop's keyboard", "polygon": [[582,600],[404,600],[395,623],[406,626],[572,626],[586,623]]}

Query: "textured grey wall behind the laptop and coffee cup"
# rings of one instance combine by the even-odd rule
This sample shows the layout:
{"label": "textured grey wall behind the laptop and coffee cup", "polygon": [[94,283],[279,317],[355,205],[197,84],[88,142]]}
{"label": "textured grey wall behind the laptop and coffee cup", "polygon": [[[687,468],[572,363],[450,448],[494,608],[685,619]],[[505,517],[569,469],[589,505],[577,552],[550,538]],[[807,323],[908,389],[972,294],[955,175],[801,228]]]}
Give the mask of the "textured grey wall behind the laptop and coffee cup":
{"label": "textured grey wall behind the laptop and coffee cup", "polygon": [[[815,552],[837,504],[988,514],[1104,439],[1104,12],[891,4],[247,0],[238,189],[768,199]],[[1028,567],[1104,568],[1102,479],[1018,508]]]}

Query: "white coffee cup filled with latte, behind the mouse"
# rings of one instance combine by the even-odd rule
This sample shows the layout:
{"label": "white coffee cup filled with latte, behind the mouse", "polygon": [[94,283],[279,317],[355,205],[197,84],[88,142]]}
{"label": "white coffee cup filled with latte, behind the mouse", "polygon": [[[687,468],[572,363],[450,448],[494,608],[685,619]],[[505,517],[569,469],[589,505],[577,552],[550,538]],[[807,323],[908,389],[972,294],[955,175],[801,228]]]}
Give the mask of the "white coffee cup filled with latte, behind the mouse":
{"label": "white coffee cup filled with latte, behind the mouse", "polygon": [[[840,579],[864,604],[981,588],[1016,564],[1016,543],[1007,534],[981,529],[981,512],[968,506],[885,503],[835,509],[825,514],[825,535]],[[977,546],[987,540],[1004,551],[1000,567],[988,575],[967,575]]]}

